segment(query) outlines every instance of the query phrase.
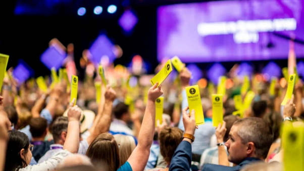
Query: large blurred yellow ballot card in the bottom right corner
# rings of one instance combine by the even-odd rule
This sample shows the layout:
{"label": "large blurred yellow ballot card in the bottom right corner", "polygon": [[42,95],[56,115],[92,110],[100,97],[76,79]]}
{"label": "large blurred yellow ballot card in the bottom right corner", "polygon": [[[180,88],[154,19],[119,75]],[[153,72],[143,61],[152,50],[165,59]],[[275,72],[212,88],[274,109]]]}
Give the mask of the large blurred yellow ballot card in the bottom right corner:
{"label": "large blurred yellow ballot card in the bottom right corner", "polygon": [[284,170],[304,170],[304,127],[284,124],[282,145]]}

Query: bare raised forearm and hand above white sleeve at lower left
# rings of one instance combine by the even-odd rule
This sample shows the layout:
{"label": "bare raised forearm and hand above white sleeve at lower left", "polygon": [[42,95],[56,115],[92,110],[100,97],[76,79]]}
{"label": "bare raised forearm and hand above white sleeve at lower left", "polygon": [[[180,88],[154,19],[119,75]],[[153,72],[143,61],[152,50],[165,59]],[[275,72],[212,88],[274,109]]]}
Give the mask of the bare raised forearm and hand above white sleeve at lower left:
{"label": "bare raised forearm and hand above white sleeve at lower left", "polygon": [[81,109],[77,105],[73,107],[74,102],[75,99],[70,103],[67,138],[63,145],[63,149],[71,153],[77,153],[79,149],[79,120],[81,116]]}

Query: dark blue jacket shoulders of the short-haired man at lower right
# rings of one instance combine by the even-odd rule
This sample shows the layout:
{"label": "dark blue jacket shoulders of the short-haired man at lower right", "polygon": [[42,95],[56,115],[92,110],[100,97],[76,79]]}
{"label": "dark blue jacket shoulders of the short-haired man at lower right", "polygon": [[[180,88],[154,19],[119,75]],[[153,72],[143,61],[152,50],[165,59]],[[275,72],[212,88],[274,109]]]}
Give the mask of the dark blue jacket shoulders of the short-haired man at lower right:
{"label": "dark blue jacket shoulders of the short-haired man at lower right", "polygon": [[236,165],[234,167],[216,165],[216,164],[205,164],[201,170],[202,171],[218,171],[218,170],[238,171],[246,164],[250,164],[252,162],[258,162],[258,161],[262,161],[262,160],[259,158],[249,157],[249,158],[245,158],[239,165]]}

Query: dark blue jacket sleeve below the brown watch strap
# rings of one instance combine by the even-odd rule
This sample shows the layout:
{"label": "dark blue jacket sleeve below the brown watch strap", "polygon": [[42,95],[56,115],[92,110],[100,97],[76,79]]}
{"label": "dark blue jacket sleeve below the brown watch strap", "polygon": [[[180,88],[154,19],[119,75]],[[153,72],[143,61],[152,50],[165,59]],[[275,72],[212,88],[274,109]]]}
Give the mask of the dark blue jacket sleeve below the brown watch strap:
{"label": "dark blue jacket sleeve below the brown watch strap", "polygon": [[174,152],[169,171],[190,171],[192,161],[192,147],[187,141],[182,141]]}

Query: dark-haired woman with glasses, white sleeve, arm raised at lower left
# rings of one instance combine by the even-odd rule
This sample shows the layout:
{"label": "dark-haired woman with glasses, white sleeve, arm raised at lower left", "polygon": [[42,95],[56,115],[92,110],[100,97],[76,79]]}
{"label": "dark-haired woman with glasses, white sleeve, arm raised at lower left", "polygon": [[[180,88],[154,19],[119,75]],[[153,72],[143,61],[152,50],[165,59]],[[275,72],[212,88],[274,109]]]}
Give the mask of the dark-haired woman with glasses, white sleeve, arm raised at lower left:
{"label": "dark-haired woman with glasses, white sleeve, arm raised at lower left", "polygon": [[41,170],[48,171],[56,169],[60,161],[76,153],[79,144],[79,119],[81,109],[77,106],[69,109],[69,127],[63,150],[56,153],[52,158],[39,165],[28,165],[32,158],[33,145],[29,143],[28,137],[19,131],[9,131],[9,142],[6,152],[5,170]]}

